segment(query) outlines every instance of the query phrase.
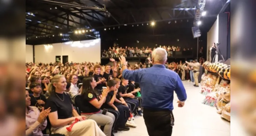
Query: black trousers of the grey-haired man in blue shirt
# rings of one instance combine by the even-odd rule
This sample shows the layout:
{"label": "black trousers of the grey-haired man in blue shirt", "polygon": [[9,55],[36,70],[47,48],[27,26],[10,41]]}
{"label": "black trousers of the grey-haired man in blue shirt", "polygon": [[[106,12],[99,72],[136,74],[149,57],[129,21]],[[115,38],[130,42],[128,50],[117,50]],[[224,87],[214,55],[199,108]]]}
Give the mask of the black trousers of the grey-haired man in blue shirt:
{"label": "black trousers of the grey-haired man in blue shirt", "polygon": [[[143,118],[147,126],[149,136],[171,136],[173,127],[171,118],[172,111],[143,110]],[[174,118],[173,118],[174,121]]]}

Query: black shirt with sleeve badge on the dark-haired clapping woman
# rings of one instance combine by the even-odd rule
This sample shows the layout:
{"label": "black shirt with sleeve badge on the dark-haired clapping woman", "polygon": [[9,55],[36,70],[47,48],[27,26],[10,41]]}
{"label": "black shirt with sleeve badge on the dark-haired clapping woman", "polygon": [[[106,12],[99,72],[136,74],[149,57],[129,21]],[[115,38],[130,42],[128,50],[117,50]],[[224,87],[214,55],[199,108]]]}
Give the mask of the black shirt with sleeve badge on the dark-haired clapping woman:
{"label": "black shirt with sleeve badge on the dark-haired clapping woman", "polygon": [[90,101],[93,101],[95,99],[97,99],[99,101],[100,95],[101,95],[101,93],[98,90],[95,90],[95,92],[86,93],[83,96],[77,95],[77,96],[75,96],[75,104],[76,104],[76,106],[78,106],[81,113],[85,113],[85,114],[98,113],[100,111],[100,109],[94,107],[90,103]]}

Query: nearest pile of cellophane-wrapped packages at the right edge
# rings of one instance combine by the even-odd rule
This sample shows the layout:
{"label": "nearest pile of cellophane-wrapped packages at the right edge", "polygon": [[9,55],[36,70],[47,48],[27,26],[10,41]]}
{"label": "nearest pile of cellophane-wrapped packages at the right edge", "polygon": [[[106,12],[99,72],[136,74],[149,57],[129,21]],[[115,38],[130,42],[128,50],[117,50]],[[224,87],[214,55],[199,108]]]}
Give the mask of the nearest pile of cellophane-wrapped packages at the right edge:
{"label": "nearest pile of cellophane-wrapped packages at the right edge", "polygon": [[223,80],[223,83],[219,86],[218,92],[216,93],[217,113],[221,114],[222,118],[230,121],[230,84]]}

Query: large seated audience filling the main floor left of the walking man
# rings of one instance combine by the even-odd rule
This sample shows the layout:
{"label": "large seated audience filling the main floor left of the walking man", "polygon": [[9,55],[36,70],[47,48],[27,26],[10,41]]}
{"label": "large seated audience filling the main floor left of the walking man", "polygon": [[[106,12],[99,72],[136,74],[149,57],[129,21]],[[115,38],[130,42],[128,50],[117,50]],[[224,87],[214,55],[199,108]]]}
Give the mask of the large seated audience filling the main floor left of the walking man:
{"label": "large seated audience filling the main floor left of the walking man", "polygon": [[26,135],[46,134],[47,126],[51,134],[73,136],[113,136],[136,127],[139,85],[122,78],[114,59],[110,63],[27,63]]}

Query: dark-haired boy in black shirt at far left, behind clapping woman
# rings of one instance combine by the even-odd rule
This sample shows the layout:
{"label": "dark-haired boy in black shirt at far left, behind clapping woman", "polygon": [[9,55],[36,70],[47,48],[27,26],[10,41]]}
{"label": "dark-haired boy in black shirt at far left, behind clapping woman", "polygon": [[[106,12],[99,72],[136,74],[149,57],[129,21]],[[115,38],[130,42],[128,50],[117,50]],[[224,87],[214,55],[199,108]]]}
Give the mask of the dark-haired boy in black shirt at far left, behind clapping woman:
{"label": "dark-haired boy in black shirt at far left, behind clapping woman", "polygon": [[36,106],[40,111],[46,102],[46,97],[41,94],[42,88],[40,83],[33,82],[30,84],[29,88],[33,92],[31,97],[31,105]]}

